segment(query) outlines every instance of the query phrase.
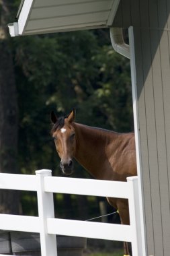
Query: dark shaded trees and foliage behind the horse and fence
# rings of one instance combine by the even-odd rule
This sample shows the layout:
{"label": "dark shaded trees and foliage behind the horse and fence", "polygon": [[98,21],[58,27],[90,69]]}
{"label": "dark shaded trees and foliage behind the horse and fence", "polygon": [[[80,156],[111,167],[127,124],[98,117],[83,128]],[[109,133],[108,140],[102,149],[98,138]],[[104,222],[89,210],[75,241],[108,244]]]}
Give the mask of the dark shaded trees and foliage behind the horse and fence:
{"label": "dark shaded trees and foliage behind the horse and fence", "polygon": [[[108,29],[10,38],[19,1],[0,1],[0,172],[61,176],[50,137],[50,111],[77,110],[76,121],[133,130],[130,62],[112,49]],[[74,177],[89,178],[75,163]],[[0,191],[0,212],[34,215],[35,193]],[[104,198],[54,195],[56,216],[99,216]],[[112,208],[108,205],[108,212]],[[113,221],[112,216],[110,221]]]}

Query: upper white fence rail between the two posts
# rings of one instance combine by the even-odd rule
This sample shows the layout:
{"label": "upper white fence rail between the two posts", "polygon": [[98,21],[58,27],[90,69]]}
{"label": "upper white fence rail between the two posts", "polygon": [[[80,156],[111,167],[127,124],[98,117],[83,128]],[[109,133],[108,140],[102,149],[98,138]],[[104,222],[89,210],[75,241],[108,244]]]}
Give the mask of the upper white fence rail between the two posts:
{"label": "upper white fence rail between the two posts", "polygon": [[129,184],[120,181],[100,181],[62,177],[44,177],[44,190],[54,193],[95,195],[99,197],[129,197]]}

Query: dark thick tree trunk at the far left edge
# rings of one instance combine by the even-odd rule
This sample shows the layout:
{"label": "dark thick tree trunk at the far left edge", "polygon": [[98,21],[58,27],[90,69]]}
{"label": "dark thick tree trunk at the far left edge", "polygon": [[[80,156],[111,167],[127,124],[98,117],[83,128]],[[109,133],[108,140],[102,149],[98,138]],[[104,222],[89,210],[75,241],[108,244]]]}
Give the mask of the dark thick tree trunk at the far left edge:
{"label": "dark thick tree trunk at the far left edge", "polygon": [[[17,92],[7,31],[7,1],[0,0],[0,172],[17,173]],[[0,190],[0,212],[19,212],[19,193]]]}

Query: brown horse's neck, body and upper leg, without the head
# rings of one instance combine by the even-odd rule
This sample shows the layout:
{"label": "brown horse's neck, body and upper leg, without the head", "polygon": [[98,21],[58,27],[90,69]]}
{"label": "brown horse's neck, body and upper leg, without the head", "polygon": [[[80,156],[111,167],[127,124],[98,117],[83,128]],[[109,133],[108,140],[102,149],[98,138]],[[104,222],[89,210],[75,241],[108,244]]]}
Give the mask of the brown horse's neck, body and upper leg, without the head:
{"label": "brown horse's neck, body and upper leg, without the head", "polygon": [[[136,175],[134,133],[114,133],[73,123],[75,128],[75,159],[95,179],[126,181]],[[119,210],[122,224],[130,224],[128,200],[108,198]]]}

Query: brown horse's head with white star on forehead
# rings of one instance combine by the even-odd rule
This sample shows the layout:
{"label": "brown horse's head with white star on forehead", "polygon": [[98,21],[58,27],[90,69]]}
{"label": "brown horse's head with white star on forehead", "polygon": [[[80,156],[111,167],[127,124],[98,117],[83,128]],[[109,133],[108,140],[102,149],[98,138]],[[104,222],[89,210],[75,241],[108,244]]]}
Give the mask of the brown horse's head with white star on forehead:
{"label": "brown horse's head with white star on forehead", "polygon": [[73,157],[75,154],[75,129],[73,121],[75,120],[75,110],[66,117],[57,118],[54,112],[50,114],[50,120],[53,127],[51,130],[52,138],[56,146],[56,151],[60,157],[60,168],[66,175],[73,172]]}

